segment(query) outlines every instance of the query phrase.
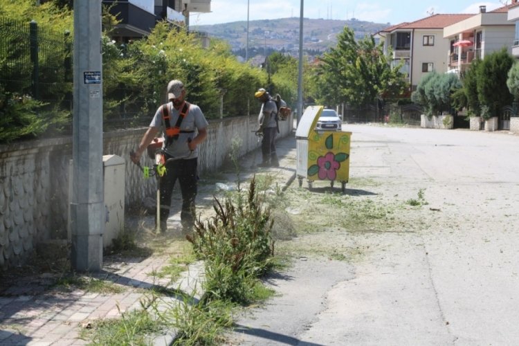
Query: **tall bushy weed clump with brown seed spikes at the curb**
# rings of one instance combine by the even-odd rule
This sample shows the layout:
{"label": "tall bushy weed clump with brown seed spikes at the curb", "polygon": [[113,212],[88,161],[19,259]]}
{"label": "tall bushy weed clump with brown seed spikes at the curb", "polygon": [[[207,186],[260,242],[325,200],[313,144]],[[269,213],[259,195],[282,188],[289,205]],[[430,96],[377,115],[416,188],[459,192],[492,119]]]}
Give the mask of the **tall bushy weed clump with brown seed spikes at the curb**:
{"label": "tall bushy weed clump with brown seed spikes at the curb", "polygon": [[195,233],[188,236],[194,251],[206,262],[203,300],[248,302],[257,277],[270,268],[274,252],[271,237],[273,220],[256,193],[255,179],[248,188],[246,201],[238,203],[226,197],[215,198],[216,215],[195,223]]}

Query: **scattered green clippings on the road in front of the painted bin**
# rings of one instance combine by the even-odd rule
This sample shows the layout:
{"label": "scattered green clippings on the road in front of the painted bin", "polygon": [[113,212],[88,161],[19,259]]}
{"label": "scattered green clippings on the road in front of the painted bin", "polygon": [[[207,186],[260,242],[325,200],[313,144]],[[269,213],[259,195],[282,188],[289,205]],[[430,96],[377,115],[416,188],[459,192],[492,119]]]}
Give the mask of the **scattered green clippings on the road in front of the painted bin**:
{"label": "scattered green clippings on the road in front of the painted bin", "polygon": [[421,217],[428,204],[424,188],[417,198],[403,199],[398,194],[378,194],[381,183],[372,179],[350,180],[352,192],[346,194],[324,182],[314,184],[312,191],[293,186],[286,190],[286,210],[297,240],[278,240],[277,257],[356,262],[372,251],[358,244],[358,237],[426,228],[428,221]]}

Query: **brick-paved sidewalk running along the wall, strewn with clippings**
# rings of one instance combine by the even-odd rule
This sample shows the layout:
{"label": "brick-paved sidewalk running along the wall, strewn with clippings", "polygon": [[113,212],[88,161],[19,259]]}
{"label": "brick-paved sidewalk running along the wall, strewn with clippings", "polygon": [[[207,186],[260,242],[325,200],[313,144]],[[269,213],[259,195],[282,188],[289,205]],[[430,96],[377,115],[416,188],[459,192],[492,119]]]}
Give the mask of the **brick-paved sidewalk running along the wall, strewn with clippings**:
{"label": "brick-paved sidewalk running along the wall, strewn with clippings", "polygon": [[[280,167],[253,168],[259,163],[260,149],[241,158],[240,180],[251,179],[253,174],[270,174],[273,182],[286,187],[295,178],[296,154],[295,136],[291,134],[277,141]],[[218,192],[216,185],[233,188],[237,185],[237,174],[232,169],[217,175],[220,184],[202,177],[199,184],[197,206],[202,215],[212,210],[213,195]],[[210,182],[211,181],[211,182]],[[224,185],[221,185],[224,184]],[[246,185],[242,185],[246,188]],[[174,191],[173,203],[180,201],[180,192]],[[198,210],[197,210],[198,211]],[[147,216],[146,224],[153,224],[153,217]],[[179,212],[168,219],[168,226],[174,228],[179,222]],[[128,226],[129,223],[127,223]],[[138,225],[142,227],[143,225]],[[174,233],[173,231],[170,231]],[[179,235],[175,235],[179,239]],[[172,239],[170,239],[171,241]],[[167,278],[158,279],[152,272],[168,264],[169,256],[161,253],[149,257],[123,259],[116,257],[104,260],[100,273],[93,277],[113,282],[122,287],[122,293],[86,293],[80,289],[64,291],[53,288],[57,280],[55,273],[38,273],[30,277],[19,277],[15,284],[0,284],[0,346],[10,345],[86,345],[86,340],[78,338],[82,328],[97,319],[120,317],[120,311],[141,309],[140,299],[154,286],[170,289],[181,288],[191,294],[199,289],[199,275],[203,272],[200,262],[192,264],[183,273],[181,280],[171,284]],[[59,275],[59,274],[58,274]],[[198,284],[198,286],[197,286]],[[153,340],[154,345],[169,345],[174,332]]]}

